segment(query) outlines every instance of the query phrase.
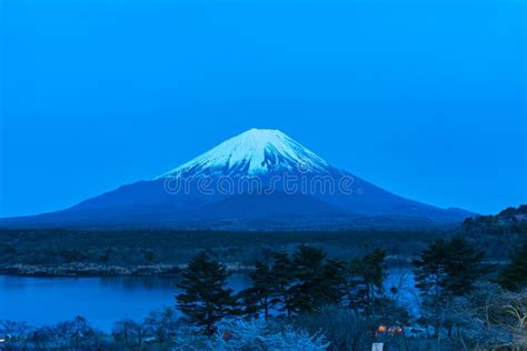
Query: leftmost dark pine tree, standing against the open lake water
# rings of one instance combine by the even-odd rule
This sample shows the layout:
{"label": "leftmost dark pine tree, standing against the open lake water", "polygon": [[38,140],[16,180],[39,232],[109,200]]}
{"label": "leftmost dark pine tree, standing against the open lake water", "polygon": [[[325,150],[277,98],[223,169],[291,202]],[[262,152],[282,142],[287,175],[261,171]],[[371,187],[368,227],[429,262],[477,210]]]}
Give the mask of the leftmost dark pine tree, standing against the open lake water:
{"label": "leftmost dark pine tree, standing against the open lake water", "polygon": [[212,334],[218,321],[236,313],[232,290],[225,288],[229,272],[202,252],[190,260],[182,277],[178,284],[183,290],[177,297],[178,309],[206,334]]}

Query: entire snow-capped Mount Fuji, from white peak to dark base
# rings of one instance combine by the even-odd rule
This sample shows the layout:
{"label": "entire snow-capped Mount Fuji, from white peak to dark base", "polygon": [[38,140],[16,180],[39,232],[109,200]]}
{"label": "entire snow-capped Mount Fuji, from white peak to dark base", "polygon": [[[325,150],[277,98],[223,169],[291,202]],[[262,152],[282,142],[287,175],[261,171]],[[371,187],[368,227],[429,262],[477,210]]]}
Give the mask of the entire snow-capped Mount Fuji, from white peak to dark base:
{"label": "entire snow-capped Mount Fuji, from white peak to dark base", "polygon": [[251,129],[155,179],[0,225],[342,229],[453,223],[471,214],[401,198],[279,130]]}

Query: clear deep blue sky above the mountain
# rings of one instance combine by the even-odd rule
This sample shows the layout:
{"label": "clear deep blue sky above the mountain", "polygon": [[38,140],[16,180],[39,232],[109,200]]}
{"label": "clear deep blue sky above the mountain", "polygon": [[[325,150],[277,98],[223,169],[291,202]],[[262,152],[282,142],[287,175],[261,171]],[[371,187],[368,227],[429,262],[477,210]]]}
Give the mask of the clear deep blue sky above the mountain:
{"label": "clear deep blue sky above the mountain", "polygon": [[525,1],[3,0],[0,215],[277,128],[387,190],[527,202]]}

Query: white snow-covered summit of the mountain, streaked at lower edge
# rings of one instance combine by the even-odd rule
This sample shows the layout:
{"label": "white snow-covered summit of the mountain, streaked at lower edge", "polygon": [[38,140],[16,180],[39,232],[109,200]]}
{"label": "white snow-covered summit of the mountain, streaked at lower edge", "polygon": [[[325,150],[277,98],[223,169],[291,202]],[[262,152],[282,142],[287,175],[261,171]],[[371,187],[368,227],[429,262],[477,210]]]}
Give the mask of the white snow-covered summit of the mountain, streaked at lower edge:
{"label": "white snow-covered summit of the mountain, streaked at lower edge", "polygon": [[255,176],[281,170],[326,173],[328,162],[279,130],[250,129],[158,177]]}

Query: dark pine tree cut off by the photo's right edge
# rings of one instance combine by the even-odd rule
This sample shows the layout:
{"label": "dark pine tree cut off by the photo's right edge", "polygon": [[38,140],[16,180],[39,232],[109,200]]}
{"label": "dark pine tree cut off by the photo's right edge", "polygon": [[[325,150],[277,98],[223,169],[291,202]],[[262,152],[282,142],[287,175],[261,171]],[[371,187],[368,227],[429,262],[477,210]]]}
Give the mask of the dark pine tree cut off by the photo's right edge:
{"label": "dark pine tree cut off by the photo's right edge", "polygon": [[527,242],[516,248],[510,262],[499,272],[497,281],[511,291],[527,288]]}

